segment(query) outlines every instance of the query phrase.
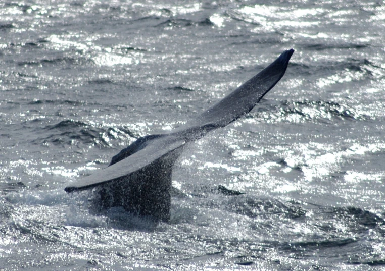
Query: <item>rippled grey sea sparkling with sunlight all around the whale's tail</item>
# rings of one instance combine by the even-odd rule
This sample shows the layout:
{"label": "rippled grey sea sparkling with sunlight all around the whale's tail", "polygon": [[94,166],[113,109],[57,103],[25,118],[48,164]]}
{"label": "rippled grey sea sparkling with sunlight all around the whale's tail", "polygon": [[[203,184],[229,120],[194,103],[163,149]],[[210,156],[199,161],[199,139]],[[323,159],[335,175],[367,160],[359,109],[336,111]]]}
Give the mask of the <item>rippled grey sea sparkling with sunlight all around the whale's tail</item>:
{"label": "rippled grey sea sparkling with sunlight all around the whale's tail", "polygon": [[[3,1],[0,269],[383,268],[384,20],[370,1]],[[169,224],[64,192],[289,48],[256,109],[184,150]]]}

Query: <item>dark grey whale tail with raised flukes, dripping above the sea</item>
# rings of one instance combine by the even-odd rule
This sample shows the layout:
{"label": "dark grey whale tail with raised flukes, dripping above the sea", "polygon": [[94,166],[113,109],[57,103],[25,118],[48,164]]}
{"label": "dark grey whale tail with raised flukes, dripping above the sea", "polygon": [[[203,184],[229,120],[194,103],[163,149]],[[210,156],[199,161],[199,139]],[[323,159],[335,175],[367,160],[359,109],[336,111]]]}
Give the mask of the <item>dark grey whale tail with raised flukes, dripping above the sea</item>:
{"label": "dark grey whale tail with raised flukes, dripping above the sea", "polygon": [[282,78],[293,53],[293,49],[285,50],[260,73],[185,125],[169,133],[138,138],[115,155],[107,168],[71,184],[65,191],[98,187],[102,208],[123,206],[134,214],[167,222],[172,167],[183,146],[249,113]]}

